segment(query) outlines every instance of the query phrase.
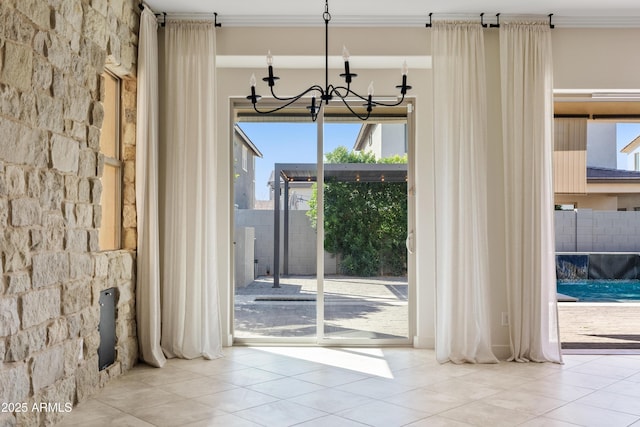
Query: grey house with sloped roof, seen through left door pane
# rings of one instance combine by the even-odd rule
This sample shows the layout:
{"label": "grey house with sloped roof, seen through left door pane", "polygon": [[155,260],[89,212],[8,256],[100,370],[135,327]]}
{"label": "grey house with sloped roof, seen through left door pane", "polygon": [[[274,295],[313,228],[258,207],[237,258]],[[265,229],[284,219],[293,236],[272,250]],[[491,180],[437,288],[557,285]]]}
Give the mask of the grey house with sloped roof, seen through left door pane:
{"label": "grey house with sloped roof, seen through left door pane", "polygon": [[255,158],[262,153],[238,125],[233,127],[233,203],[236,209],[254,209],[256,203]]}

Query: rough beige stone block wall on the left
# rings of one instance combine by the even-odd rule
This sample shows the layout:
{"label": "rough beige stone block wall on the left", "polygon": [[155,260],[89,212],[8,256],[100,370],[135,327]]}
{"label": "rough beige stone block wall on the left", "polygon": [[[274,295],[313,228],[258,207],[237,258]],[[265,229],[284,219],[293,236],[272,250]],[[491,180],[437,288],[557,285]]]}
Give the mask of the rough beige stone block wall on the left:
{"label": "rough beige stone block wall on the left", "polygon": [[[0,1],[0,425],[51,425],[137,360],[135,0]],[[100,252],[105,65],[123,77],[123,250]],[[98,369],[100,291],[118,288]],[[34,404],[51,410],[34,411]],[[57,405],[57,406],[56,406]],[[14,408],[15,409],[15,408]]]}

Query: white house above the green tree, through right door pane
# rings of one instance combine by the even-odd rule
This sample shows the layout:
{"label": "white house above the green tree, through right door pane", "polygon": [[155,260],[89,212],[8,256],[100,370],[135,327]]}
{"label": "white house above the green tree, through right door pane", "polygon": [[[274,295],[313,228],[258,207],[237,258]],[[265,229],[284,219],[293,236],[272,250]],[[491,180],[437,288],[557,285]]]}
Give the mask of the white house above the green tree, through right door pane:
{"label": "white house above the green tree, through right door pane", "polygon": [[407,154],[405,123],[365,123],[353,145],[354,151],[372,152],[376,159]]}

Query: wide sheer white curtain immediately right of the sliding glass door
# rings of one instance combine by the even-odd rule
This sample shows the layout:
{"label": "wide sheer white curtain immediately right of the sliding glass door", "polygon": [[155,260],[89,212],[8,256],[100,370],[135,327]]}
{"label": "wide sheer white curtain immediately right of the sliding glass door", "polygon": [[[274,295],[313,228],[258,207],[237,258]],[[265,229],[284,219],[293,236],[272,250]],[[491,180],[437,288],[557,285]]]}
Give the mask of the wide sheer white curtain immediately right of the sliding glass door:
{"label": "wide sheer white curtain immediately right of the sliding glass door", "polygon": [[479,23],[432,32],[436,164],[436,356],[495,363],[488,312],[487,132]]}

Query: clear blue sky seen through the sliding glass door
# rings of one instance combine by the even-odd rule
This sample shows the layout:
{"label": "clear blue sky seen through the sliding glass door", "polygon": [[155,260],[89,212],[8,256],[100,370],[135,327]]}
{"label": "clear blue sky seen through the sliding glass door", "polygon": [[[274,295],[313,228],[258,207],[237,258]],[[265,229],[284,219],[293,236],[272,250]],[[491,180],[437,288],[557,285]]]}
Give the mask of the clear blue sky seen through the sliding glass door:
{"label": "clear blue sky seen through the sliding glass door", "polygon": [[[267,183],[275,163],[316,163],[316,124],[241,122],[240,128],[258,147],[263,158],[256,158],[256,199],[269,200]],[[326,123],[324,153],[338,146],[353,147],[361,123]]]}

